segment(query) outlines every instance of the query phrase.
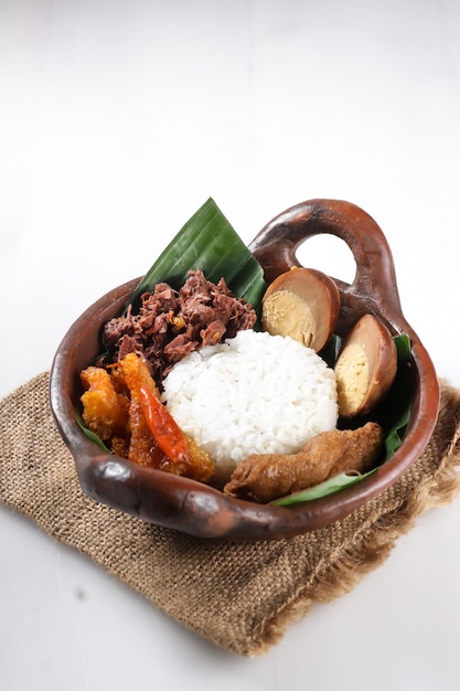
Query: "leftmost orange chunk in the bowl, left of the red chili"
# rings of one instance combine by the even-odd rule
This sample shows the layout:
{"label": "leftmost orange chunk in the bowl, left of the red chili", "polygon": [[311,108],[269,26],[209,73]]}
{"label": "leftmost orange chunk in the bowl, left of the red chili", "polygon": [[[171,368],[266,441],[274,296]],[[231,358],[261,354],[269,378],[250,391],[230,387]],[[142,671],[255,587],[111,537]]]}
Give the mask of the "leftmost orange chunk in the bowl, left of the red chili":
{"label": "leftmost orange chunk in the bowl, left of the red chili", "polygon": [[109,373],[103,368],[89,366],[81,373],[86,389],[82,395],[82,417],[85,425],[106,442],[128,434],[129,401],[117,393]]}

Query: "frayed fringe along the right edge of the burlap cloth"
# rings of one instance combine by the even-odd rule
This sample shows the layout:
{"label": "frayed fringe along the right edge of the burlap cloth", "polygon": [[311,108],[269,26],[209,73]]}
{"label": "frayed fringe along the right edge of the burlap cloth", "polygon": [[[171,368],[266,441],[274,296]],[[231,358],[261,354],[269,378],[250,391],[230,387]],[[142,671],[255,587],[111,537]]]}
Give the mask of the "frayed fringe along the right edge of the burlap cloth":
{"label": "frayed fringe along the right edge of the burlap cloth", "polygon": [[282,607],[267,623],[258,640],[253,640],[248,657],[265,655],[278,644],[287,628],[302,619],[318,603],[330,603],[350,593],[368,573],[375,571],[389,556],[398,538],[411,530],[417,519],[430,509],[447,506],[460,492],[460,391],[441,380],[446,426],[452,429],[451,442],[437,472],[426,478],[409,497],[406,506],[381,517],[370,534],[359,535],[356,543],[334,563],[324,564],[311,583],[293,602]]}

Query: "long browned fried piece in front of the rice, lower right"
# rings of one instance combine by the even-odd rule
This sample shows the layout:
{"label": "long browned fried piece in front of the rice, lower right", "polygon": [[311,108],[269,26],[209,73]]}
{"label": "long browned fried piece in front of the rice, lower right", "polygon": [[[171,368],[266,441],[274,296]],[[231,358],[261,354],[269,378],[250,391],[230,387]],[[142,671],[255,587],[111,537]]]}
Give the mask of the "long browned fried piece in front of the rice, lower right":
{"label": "long browned fried piece in front of the rice, lower right", "polygon": [[383,429],[332,429],[312,437],[297,454],[254,454],[234,470],[224,493],[267,503],[319,485],[341,472],[364,472],[378,459]]}

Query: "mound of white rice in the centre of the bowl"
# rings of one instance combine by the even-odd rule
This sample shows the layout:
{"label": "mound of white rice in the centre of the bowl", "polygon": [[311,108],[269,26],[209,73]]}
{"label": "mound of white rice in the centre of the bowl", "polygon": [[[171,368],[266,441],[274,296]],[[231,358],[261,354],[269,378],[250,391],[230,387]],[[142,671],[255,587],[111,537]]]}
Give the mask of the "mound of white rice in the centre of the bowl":
{"label": "mound of white rice in the centre of the bowl", "polygon": [[244,330],[174,364],[163,400],[225,481],[250,454],[293,454],[338,421],[335,375],[289,337]]}

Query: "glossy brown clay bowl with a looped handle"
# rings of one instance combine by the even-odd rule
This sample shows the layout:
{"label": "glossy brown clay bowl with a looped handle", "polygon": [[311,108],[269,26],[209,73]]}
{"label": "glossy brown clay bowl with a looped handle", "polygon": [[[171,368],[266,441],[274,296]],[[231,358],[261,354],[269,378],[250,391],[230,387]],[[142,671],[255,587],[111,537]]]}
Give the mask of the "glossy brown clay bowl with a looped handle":
{"label": "glossy brown clay bowl with a looped handle", "polygon": [[298,247],[308,237],[321,233],[342,238],[356,262],[351,285],[334,279],[342,298],[339,333],[344,334],[363,313],[372,312],[394,334],[406,332],[410,338],[407,385],[413,389],[413,405],[399,449],[376,472],[352,487],[295,507],[233,499],[194,480],[101,453],[75,422],[74,406],[82,393],[78,374],[99,352],[100,329],[120,312],[139,280],[135,279],[101,297],[75,321],[57,349],[51,371],[52,411],[75,459],[81,486],[89,497],[145,521],[200,538],[280,539],[343,519],[386,490],[420,456],[438,416],[438,380],[427,351],[403,316],[392,253],[375,221],[347,202],[311,200],[270,221],[249,249],[270,281],[292,265],[299,265]]}

